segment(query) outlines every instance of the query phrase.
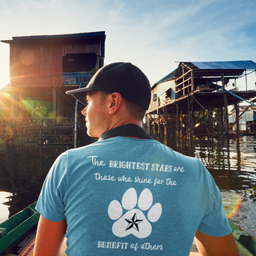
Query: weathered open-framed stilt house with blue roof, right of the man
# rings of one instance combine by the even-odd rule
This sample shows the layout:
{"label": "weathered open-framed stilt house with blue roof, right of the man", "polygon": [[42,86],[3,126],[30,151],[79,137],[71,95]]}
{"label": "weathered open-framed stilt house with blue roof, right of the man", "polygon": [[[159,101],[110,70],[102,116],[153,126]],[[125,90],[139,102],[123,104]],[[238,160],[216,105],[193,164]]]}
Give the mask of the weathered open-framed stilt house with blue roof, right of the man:
{"label": "weathered open-framed stilt house with blue roof, right of the man", "polygon": [[[152,87],[146,130],[178,151],[182,145],[192,149],[194,138],[238,138],[243,114],[239,102],[246,102],[247,110],[255,106],[256,90],[247,90],[246,79],[246,90],[239,90],[237,81],[255,70],[252,61],[179,62],[176,70]],[[233,123],[229,122],[229,106],[234,106]],[[250,126],[256,127],[255,123],[256,118]]]}

